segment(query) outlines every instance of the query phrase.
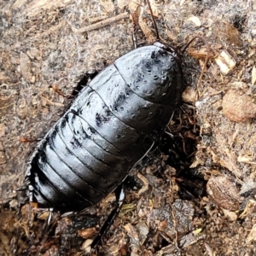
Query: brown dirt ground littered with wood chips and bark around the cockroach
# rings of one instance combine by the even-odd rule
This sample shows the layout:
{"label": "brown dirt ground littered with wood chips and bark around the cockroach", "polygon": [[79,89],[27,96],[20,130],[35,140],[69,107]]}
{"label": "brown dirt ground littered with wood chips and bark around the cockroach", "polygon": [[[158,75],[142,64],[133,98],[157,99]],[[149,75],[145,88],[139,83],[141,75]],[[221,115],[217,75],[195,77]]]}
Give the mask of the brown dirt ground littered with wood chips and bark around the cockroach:
{"label": "brown dirt ground littered with wood chips and bark around the cockroach", "polygon": [[[183,53],[187,89],[172,136],[131,172],[99,255],[255,255],[256,3],[150,2],[161,40],[181,51],[205,39]],[[133,49],[133,12],[138,44],[152,44],[144,2],[0,1],[1,256],[86,255],[112,209],[111,194],[89,210],[100,218],[90,229],[80,215],[47,227],[48,213],[27,205],[18,217],[16,189],[37,144],[20,138],[44,137],[67,109],[51,86],[68,95]]]}

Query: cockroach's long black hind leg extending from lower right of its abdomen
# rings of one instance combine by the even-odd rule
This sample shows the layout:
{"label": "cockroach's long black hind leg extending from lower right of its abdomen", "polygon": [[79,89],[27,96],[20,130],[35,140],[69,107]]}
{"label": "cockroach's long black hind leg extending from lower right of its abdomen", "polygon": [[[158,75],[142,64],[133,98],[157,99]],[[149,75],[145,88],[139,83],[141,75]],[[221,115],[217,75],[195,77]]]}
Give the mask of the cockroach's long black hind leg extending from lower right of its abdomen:
{"label": "cockroach's long black hind leg extending from lower right of its abdomen", "polygon": [[117,189],[114,191],[116,199],[118,201],[117,207],[114,207],[112,212],[108,215],[108,218],[105,220],[104,224],[102,225],[102,228],[99,232],[99,234],[96,236],[94,241],[92,241],[90,247],[91,251],[95,251],[96,247],[99,245],[99,243],[102,241],[102,237],[106,234],[106,232],[109,230],[110,226],[113,224],[114,219],[118,216],[120,209],[125,201],[125,186],[122,183],[119,185]]}

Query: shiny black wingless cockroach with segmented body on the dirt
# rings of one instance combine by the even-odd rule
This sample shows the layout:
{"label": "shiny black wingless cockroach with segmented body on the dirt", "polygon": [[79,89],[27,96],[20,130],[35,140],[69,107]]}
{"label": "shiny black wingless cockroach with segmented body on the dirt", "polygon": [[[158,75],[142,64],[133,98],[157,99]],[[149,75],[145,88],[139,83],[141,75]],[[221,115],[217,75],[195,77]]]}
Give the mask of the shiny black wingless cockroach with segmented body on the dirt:
{"label": "shiny black wingless cockroach with segmented body on the dirt", "polygon": [[[156,43],[131,50],[97,74],[38,143],[26,170],[27,200],[60,212],[93,206],[160,139],[184,85],[177,50],[156,33]],[[123,200],[121,190],[101,233]]]}

